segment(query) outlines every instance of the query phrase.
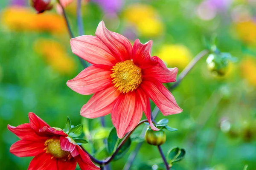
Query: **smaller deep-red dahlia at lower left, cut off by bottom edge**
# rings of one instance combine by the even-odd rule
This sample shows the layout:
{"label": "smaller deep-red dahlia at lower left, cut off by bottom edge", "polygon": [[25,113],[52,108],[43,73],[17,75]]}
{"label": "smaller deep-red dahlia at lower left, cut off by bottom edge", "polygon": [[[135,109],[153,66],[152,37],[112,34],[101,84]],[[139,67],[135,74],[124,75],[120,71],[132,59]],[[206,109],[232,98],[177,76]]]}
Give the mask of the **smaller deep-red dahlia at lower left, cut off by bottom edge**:
{"label": "smaller deep-red dahlia at lower left, cut off by bottom edge", "polygon": [[10,152],[18,157],[35,156],[28,170],[99,170],[90,157],[63,130],[50,127],[29,113],[29,123],[7,128],[21,140],[12,144]]}

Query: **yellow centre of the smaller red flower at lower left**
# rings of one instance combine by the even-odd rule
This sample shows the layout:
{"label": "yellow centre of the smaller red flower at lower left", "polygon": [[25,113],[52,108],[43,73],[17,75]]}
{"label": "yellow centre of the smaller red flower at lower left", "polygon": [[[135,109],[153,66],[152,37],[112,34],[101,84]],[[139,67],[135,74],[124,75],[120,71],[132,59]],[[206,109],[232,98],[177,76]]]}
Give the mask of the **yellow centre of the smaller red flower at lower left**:
{"label": "yellow centre of the smaller red flower at lower left", "polygon": [[44,142],[44,145],[46,146],[44,148],[45,152],[50,153],[52,158],[55,157],[64,160],[72,158],[70,152],[61,149],[60,139],[58,138],[47,139],[47,141]]}

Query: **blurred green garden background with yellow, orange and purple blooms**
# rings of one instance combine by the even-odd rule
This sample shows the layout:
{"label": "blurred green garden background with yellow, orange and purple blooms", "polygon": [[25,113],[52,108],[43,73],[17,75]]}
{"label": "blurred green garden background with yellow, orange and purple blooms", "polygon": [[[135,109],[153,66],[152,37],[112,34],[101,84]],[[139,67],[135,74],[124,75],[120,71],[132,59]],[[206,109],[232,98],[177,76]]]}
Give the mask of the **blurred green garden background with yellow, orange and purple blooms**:
{"label": "blurred green garden background with yellow, orange and purple blooms", "polygon": [[[178,67],[179,73],[205,49],[204,39],[209,40],[213,34],[218,35],[222,52],[237,57],[223,77],[207,69],[207,57],[201,59],[172,91],[183,112],[157,116],[157,120],[169,119],[169,126],[178,129],[166,132],[164,153],[174,146],[186,149],[185,159],[174,164],[172,170],[243,170],[245,165],[247,170],[256,169],[255,8],[255,0],[83,2],[85,34],[94,35],[104,20],[107,28],[131,42],[136,38],[143,43],[153,40],[152,56],[162,58],[169,67]],[[76,2],[66,10],[78,36]],[[69,40],[64,20],[55,9],[37,15],[26,0],[0,1],[1,170],[25,170],[32,159],[9,153],[18,138],[6,128],[7,124],[28,122],[29,112],[52,127],[63,128],[67,116],[74,125],[83,122],[93,142],[87,144],[88,150],[102,159],[99,149],[106,130],[112,127],[111,116],[106,116],[106,129],[102,129],[99,119],[80,116],[90,96],[77,94],[66,85],[83,69],[72,54]],[[135,136],[142,128],[135,131]],[[110,167],[121,170],[137,144],[134,141],[124,158]],[[131,169],[164,169],[157,147],[144,142]]]}

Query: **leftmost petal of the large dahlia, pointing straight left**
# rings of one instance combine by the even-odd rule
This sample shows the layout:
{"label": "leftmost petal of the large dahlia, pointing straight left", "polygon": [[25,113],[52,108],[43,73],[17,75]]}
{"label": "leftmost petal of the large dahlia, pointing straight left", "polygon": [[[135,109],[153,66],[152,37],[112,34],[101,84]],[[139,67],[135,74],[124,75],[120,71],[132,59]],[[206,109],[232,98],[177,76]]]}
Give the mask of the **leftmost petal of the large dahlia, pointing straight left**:
{"label": "leftmost petal of the large dahlia, pointing straight left", "polygon": [[67,81],[67,86],[79,94],[90,95],[112,85],[110,74],[112,74],[110,66],[91,65],[74,79]]}

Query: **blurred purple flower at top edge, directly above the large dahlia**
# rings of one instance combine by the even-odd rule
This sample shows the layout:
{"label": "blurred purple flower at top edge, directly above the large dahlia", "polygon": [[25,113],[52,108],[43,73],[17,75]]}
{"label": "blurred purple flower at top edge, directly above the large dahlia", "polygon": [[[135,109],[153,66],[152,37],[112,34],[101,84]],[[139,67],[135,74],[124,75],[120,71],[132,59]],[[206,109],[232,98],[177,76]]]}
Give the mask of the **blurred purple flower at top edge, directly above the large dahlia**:
{"label": "blurred purple flower at top edge, directly above the large dahlia", "polygon": [[121,10],[124,0],[92,0],[102,7],[105,13],[117,13]]}

